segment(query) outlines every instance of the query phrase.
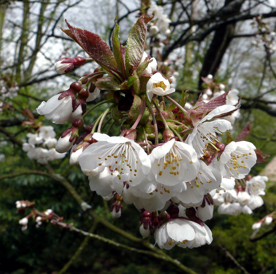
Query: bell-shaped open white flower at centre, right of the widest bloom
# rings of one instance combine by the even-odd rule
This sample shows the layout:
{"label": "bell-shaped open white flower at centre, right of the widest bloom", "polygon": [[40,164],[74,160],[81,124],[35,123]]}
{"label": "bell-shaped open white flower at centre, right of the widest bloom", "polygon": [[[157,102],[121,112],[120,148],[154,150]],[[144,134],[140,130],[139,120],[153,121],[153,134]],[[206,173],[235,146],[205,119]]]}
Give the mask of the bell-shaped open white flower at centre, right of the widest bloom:
{"label": "bell-shaped open white flower at centre, right of the widest bloom", "polygon": [[155,178],[157,182],[167,186],[195,179],[200,166],[195,150],[175,139],[155,147],[149,159],[152,168],[148,179]]}

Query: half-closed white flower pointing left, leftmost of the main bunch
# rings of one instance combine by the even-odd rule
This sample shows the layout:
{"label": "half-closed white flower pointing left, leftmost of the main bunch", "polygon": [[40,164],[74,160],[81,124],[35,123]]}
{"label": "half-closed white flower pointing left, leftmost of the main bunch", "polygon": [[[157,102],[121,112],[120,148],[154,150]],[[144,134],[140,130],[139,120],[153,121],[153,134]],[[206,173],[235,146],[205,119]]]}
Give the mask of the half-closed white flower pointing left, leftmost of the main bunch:
{"label": "half-closed white flower pointing left, leftmost of the main bunch", "polygon": [[46,119],[52,120],[55,124],[63,124],[73,111],[72,97],[70,95],[59,100],[60,94],[43,101],[36,109],[38,114],[44,115]]}

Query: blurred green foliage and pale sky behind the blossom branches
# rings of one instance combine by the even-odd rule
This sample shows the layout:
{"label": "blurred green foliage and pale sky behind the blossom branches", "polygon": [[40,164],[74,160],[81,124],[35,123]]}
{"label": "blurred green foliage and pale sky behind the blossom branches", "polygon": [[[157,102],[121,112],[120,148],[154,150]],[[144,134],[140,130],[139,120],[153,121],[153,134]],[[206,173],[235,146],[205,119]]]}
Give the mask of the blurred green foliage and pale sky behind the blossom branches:
{"label": "blurred green foliage and pale sky behind the blossom branches", "polygon": [[[238,1],[224,2],[214,0],[202,2],[206,2],[210,9],[213,8],[213,12],[219,12],[222,7],[227,6],[230,2]],[[273,16],[275,7],[272,1],[264,1],[267,2],[268,6],[272,6],[270,11],[267,11],[265,7],[259,6],[257,2],[261,1],[240,2],[243,2],[244,10],[250,6],[251,2],[254,2],[256,7],[250,9],[249,12],[253,15],[271,12],[271,16],[267,16],[266,22],[270,23],[271,31],[275,31],[275,15]],[[142,2],[142,4],[145,3],[147,1]],[[190,6],[203,5],[201,1],[158,1],[158,4],[168,10],[171,8],[171,3],[180,3],[182,6],[187,6],[186,13],[188,15]],[[45,14],[40,14],[40,17],[36,16],[39,11],[41,12],[43,5],[46,5]],[[78,46],[61,36],[62,34],[57,31],[57,25],[64,27],[63,19],[67,16],[67,19],[71,19],[72,25],[90,28],[89,30],[101,34],[104,39],[108,40],[108,33],[112,30],[115,15],[121,18],[128,14],[128,17],[125,16],[125,19],[122,19],[120,25],[123,41],[123,38],[128,33],[126,32],[125,34],[124,30],[129,30],[136,20],[135,13],[131,11],[140,9],[141,2],[106,0],[95,1],[93,5],[91,7],[89,1],[67,0],[52,2],[44,0],[0,1],[2,33],[0,39],[1,76],[4,78],[7,74],[12,75],[12,80],[19,87],[16,97],[6,98],[3,101],[5,105],[0,119],[0,154],[4,155],[0,162],[1,274],[183,273],[183,270],[169,262],[145,254],[116,248],[110,244],[50,223],[43,223],[39,228],[36,228],[35,221],[30,220],[28,229],[25,231],[21,231],[21,226],[18,224],[18,221],[28,214],[28,209],[26,209],[26,214],[18,213],[15,208],[15,202],[17,200],[29,200],[35,202],[35,207],[39,211],[52,209],[56,214],[64,217],[65,222],[73,223],[75,227],[104,236],[118,243],[143,249],[140,243],[131,243],[126,237],[108,229],[102,223],[97,222],[87,211],[83,211],[60,182],[44,175],[24,174],[28,171],[47,172],[47,170],[44,165],[30,160],[26,156],[26,152],[22,151],[21,145],[26,140],[26,134],[28,132],[34,133],[37,128],[34,124],[22,126],[22,122],[28,120],[22,114],[22,111],[28,108],[33,113],[36,123],[43,122],[43,125],[52,125],[51,121],[45,120],[36,113],[35,109],[40,102],[47,100],[57,90],[67,89],[70,83],[75,81],[74,79],[78,79],[80,75],[91,70],[91,68],[94,69],[93,65],[89,64],[84,68],[72,71],[69,76],[60,76],[60,79],[56,77],[53,65],[58,58],[84,54]],[[88,6],[89,9],[85,10]],[[63,10],[65,11],[63,12]],[[79,18],[82,12],[86,16],[86,20]],[[101,14],[101,16],[95,18],[95,12]],[[204,12],[204,9],[201,12]],[[211,11],[209,13],[211,14]],[[178,16],[179,11],[175,11],[175,14]],[[32,16],[28,17],[29,15]],[[181,17],[177,16],[174,17],[172,15],[172,22],[181,21]],[[223,17],[224,15],[217,14],[217,16],[220,16],[220,20],[226,20]],[[219,19],[217,20],[219,21]],[[43,30],[39,33],[38,26],[41,22]],[[253,50],[250,43],[254,35],[246,36],[248,33],[256,33],[257,30],[253,27],[251,28],[249,24],[244,25],[246,25],[244,21],[237,22],[236,34],[238,35],[238,31],[242,30],[245,38],[243,38],[244,40],[240,39],[238,42],[237,40],[232,40],[229,43],[221,60],[219,70],[217,70],[216,81],[217,83],[226,84],[229,88],[231,86],[237,88],[240,91],[240,96],[243,95],[247,98],[241,101],[241,118],[235,122],[232,137],[235,139],[241,129],[251,122],[251,133],[247,140],[266,155],[270,155],[266,162],[256,164],[252,168],[251,174],[258,175],[276,154],[276,115],[273,115],[275,103],[274,105],[272,103],[264,103],[268,110],[261,109],[258,107],[259,102],[256,98],[260,94],[259,92],[265,93],[269,89],[274,89],[269,93],[269,97],[262,97],[262,99],[267,100],[267,102],[275,102],[276,80],[271,70],[269,72],[269,67],[266,67],[267,73],[263,73],[264,63],[268,62],[266,61],[268,59],[266,58],[265,50],[263,48]],[[46,28],[48,29],[46,30]],[[177,39],[179,34],[181,34],[181,30],[176,28],[171,35],[170,41]],[[42,39],[38,45],[34,46],[39,35],[42,36]],[[199,76],[213,36],[214,31],[210,31],[209,35],[202,41],[191,41],[189,47],[191,48],[190,59],[192,61],[187,64],[185,63],[188,62],[187,58],[182,60],[184,66],[179,69],[180,76],[177,89],[179,91],[182,89],[191,90],[189,100],[196,100],[196,96],[200,92],[198,87]],[[47,42],[44,43],[43,39],[46,40],[46,37]],[[169,47],[169,44],[167,46]],[[47,54],[49,49],[52,49],[52,51]],[[28,60],[30,60],[34,52],[36,53],[34,57],[35,65],[31,69]],[[269,57],[269,62],[275,67],[275,56],[273,54]],[[189,67],[188,70],[187,67]],[[232,79],[232,84],[227,82],[229,78]],[[93,104],[99,102],[102,98],[97,99],[98,101],[96,102],[89,103],[87,107],[92,107]],[[248,103],[251,104],[248,105]],[[87,117],[85,123],[91,123],[103,110],[103,106],[97,108],[94,115]],[[67,123],[55,125],[57,137],[69,126]],[[114,127],[114,133],[116,131],[119,132],[119,127],[119,124]],[[116,227],[141,238],[139,234],[139,212],[133,205],[123,205],[121,218],[113,220],[109,211],[112,201],[103,201],[100,196],[90,190],[88,179],[83,175],[80,167],[69,166],[68,156],[64,159],[52,161],[51,167],[56,174],[61,174],[70,182],[78,195],[92,206],[98,216],[108,220]],[[19,173],[22,173],[22,175],[14,176],[14,174]],[[270,177],[267,183],[264,201],[264,205],[254,210],[252,215],[219,215],[215,210],[213,219],[206,222],[213,233],[213,242],[209,246],[201,246],[194,249],[174,248],[166,251],[166,253],[197,273],[276,273],[275,233],[271,233],[256,242],[250,241],[252,224],[275,210],[276,187],[273,177]],[[261,228],[260,234],[267,229],[267,227]],[[153,236],[150,236],[149,241],[154,244]],[[227,252],[236,261],[231,259]],[[68,268],[65,269],[64,266],[66,265]]]}

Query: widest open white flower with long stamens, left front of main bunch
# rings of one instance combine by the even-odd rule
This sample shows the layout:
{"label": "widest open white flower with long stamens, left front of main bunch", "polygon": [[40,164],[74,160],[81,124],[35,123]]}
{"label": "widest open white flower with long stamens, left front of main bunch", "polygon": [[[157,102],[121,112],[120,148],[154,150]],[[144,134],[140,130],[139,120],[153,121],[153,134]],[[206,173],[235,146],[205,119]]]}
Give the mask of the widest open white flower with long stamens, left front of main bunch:
{"label": "widest open white flower with long stamens, left front of main bunch", "polygon": [[118,174],[111,175],[121,182],[121,174],[128,174],[129,185],[138,185],[150,171],[151,165],[147,153],[137,143],[121,136],[109,137],[106,134],[94,133],[97,143],[92,143],[79,156],[79,165],[83,169],[94,170],[105,166]]}

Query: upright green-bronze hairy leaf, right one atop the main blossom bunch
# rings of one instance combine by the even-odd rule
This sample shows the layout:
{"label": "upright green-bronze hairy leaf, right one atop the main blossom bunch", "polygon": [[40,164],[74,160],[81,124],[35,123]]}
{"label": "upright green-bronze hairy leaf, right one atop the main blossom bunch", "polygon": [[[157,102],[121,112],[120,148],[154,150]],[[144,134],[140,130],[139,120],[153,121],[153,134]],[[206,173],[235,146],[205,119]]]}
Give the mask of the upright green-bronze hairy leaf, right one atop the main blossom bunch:
{"label": "upright green-bronze hairy leaf, right one atop the main blossom bunch", "polygon": [[130,70],[131,66],[138,66],[145,49],[147,23],[152,17],[140,17],[131,28],[128,39],[126,41],[128,47],[126,49],[126,66]]}

